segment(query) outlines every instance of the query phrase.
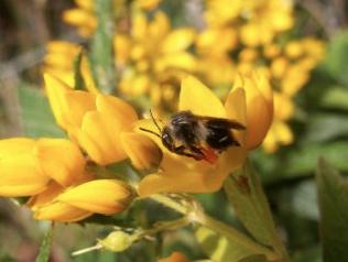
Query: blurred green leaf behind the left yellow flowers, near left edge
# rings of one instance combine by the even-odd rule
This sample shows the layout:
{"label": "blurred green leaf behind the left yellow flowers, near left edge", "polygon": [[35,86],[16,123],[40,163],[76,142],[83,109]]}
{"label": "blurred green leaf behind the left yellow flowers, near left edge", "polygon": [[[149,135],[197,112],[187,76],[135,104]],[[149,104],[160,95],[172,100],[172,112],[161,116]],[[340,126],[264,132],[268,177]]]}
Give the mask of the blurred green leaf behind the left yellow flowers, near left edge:
{"label": "blurred green leaf behind the left yellow flowers, near left edge", "polygon": [[31,138],[65,137],[55,123],[48,101],[40,89],[21,86],[19,88],[19,100],[25,135]]}

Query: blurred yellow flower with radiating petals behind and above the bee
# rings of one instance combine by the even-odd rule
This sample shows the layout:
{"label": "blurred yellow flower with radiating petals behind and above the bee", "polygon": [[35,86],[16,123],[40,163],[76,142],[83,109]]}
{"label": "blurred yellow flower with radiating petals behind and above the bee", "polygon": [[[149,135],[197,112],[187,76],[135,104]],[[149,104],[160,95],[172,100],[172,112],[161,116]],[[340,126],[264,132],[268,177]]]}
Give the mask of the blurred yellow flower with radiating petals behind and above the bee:
{"label": "blurred yellow flower with radiating petals behind and above the bee", "polygon": [[155,107],[173,103],[163,87],[175,94],[181,75],[195,69],[196,61],[187,51],[194,37],[193,29],[171,30],[163,12],[152,21],[144,13],[134,14],[131,33],[115,37],[116,64],[122,70],[120,90],[130,97],[145,96]]}

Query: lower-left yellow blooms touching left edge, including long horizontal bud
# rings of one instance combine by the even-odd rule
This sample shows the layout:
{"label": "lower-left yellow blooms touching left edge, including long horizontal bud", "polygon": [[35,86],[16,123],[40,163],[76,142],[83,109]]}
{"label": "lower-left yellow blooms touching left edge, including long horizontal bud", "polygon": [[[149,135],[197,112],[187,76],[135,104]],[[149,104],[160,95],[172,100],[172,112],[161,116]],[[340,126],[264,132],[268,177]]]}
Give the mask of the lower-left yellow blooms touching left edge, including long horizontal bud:
{"label": "lower-left yellow blooms touching left edge, including long horizontal bud", "polygon": [[0,145],[0,196],[30,197],[26,205],[36,219],[111,215],[132,199],[131,188],[121,181],[93,181],[83,153],[69,140],[19,138],[1,140]]}

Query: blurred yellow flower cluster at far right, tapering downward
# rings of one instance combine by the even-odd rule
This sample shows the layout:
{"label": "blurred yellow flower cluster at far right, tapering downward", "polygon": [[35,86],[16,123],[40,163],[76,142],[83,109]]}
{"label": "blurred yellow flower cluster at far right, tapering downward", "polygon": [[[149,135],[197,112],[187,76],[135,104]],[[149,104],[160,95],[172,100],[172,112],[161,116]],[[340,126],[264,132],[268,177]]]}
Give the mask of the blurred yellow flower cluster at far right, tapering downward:
{"label": "blurred yellow flower cluster at far right, tapering downward", "polygon": [[276,90],[274,121],[263,143],[265,151],[274,152],[280,145],[293,142],[293,133],[286,122],[294,116],[294,96],[309,80],[311,70],[324,57],[324,43],[312,37],[291,41],[283,48],[274,44],[264,47],[264,57],[270,64],[265,70]]}

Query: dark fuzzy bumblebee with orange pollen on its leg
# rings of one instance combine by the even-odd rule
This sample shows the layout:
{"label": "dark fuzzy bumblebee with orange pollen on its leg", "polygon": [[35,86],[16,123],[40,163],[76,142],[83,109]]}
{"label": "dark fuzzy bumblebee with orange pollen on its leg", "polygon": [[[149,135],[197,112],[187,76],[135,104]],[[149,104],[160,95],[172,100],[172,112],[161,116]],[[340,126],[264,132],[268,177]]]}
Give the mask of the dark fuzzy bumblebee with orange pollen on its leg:
{"label": "dark fuzzy bumblebee with orange pollen on its leg", "polygon": [[240,146],[231,130],[246,129],[233,120],[197,116],[188,110],[173,114],[163,129],[160,128],[152,113],[151,118],[160,133],[140,128],[142,131],[159,137],[163,145],[175,154],[197,161],[205,160],[213,164],[218,154],[229,146]]}

